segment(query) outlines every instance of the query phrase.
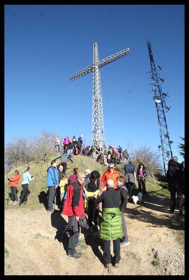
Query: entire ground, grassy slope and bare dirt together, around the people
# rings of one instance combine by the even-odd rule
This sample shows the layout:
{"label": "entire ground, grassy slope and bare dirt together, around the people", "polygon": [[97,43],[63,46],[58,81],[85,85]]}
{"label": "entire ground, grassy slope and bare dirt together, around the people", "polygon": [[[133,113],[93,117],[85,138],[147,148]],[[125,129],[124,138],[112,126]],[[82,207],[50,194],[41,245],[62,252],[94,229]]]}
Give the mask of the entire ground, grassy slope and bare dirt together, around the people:
{"label": "entire ground, grassy slope and bare dirt together, around the people", "polygon": [[[82,253],[82,258],[67,257],[68,238],[63,231],[68,217],[61,215],[56,205],[53,213],[46,211],[47,168],[53,158],[48,156],[44,164],[29,163],[30,174],[35,179],[29,183],[28,204],[5,205],[5,275],[184,275],[184,216],[179,215],[178,206],[174,215],[170,213],[170,193],[164,177],[158,180],[148,175],[146,189],[150,197],[147,195],[141,204],[127,203],[124,217],[130,245],[121,247],[118,268],[104,268],[103,241],[98,234],[80,234],[77,251]],[[71,161],[67,164],[67,176],[73,173],[74,167],[80,172],[87,168],[99,170],[101,176],[107,169],[86,156],[72,159],[74,164]],[[5,174],[5,203],[7,177],[13,177],[15,169],[21,174],[17,193],[20,201],[25,166],[15,166]],[[116,169],[125,174],[124,164]],[[135,195],[137,191],[138,184]],[[100,217],[101,211],[100,203]],[[113,256],[113,244],[111,253]]]}

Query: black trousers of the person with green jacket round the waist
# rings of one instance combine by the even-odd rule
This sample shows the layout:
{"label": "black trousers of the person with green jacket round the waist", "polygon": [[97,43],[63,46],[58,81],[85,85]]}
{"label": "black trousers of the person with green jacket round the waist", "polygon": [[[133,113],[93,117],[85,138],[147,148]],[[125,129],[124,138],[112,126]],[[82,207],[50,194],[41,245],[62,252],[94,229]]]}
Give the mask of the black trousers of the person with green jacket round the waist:
{"label": "black trousers of the person with green jacket round the waist", "polygon": [[[104,252],[103,252],[103,258],[104,261],[107,264],[111,263],[111,252],[110,252],[110,240],[104,240]],[[119,263],[121,256],[120,256],[120,242],[119,242],[119,238],[116,240],[113,240],[113,260],[114,263]]]}

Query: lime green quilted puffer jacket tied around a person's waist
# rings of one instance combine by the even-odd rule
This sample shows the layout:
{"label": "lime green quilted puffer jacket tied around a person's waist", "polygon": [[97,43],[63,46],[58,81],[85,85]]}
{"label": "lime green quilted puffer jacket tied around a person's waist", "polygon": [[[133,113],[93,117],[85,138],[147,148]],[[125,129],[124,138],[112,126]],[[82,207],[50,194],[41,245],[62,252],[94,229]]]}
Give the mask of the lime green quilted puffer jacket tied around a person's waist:
{"label": "lime green quilted puffer jacket tied around a person's waist", "polygon": [[99,237],[115,240],[123,237],[122,217],[119,208],[103,208]]}

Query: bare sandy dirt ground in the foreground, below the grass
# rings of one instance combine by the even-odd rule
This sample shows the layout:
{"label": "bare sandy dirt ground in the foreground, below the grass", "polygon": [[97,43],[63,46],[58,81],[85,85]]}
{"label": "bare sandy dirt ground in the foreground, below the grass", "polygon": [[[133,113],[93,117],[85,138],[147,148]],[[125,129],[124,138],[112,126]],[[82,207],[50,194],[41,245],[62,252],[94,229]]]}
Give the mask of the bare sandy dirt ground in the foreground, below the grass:
{"label": "bare sandy dirt ground in the foreground, below the grass", "polygon": [[184,247],[177,238],[184,217],[178,210],[169,213],[168,197],[154,195],[141,205],[127,203],[127,210],[130,245],[121,247],[119,267],[108,270],[102,264],[98,235],[80,234],[77,251],[83,255],[70,258],[67,236],[62,235],[67,216],[59,210],[48,213],[45,207],[31,211],[29,205],[7,205],[5,275],[184,275]]}

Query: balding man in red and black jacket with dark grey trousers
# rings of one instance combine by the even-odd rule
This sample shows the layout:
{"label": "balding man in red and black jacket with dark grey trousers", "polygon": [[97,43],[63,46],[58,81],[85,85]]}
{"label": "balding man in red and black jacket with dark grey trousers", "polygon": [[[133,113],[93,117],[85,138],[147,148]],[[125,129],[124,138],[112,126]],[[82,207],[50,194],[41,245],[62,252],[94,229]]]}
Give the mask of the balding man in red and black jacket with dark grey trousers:
{"label": "balding man in red and black jacket with dark grey trousers", "polygon": [[[69,185],[67,191],[67,197],[64,203],[64,208],[62,210],[63,215],[68,216],[68,225],[74,217],[76,218],[77,222],[79,222],[79,217],[82,215],[85,217],[84,213],[84,204],[83,204],[83,197],[82,197],[82,184],[85,182],[85,174],[84,173],[77,173],[75,182],[72,182]],[[74,216],[74,217],[73,217]],[[69,237],[68,243],[68,250],[67,256],[74,257],[76,259],[81,258],[82,253],[77,253],[76,247],[80,245],[79,238],[79,231],[75,232],[73,235]]]}

